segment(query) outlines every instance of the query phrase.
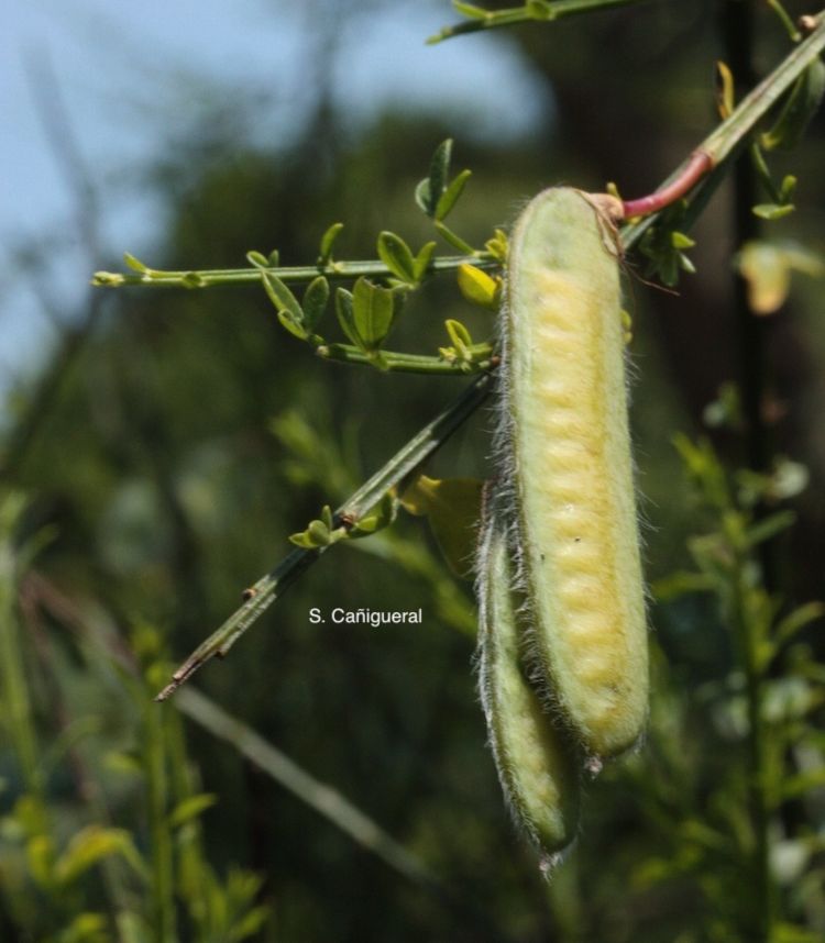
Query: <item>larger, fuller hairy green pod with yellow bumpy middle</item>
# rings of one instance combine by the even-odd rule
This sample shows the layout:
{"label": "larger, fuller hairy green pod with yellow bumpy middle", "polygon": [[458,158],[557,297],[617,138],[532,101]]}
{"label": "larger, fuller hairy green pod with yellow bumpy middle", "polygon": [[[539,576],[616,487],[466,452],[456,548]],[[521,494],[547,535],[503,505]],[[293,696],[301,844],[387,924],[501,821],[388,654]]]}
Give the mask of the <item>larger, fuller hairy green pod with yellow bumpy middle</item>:
{"label": "larger, fuller hairy green pod with yellow bumpy middle", "polygon": [[597,199],[559,187],[516,224],[503,410],[535,656],[596,757],[638,739],[647,626],[619,253]]}

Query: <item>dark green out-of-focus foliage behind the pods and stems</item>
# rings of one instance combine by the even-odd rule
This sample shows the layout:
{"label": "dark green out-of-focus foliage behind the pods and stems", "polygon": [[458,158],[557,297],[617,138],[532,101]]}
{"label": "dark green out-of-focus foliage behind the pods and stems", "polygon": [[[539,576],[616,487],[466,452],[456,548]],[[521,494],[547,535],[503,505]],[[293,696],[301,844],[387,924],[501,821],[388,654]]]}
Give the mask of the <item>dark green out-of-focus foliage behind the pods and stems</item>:
{"label": "dark green out-of-focus foliage behind the pods and stems", "polygon": [[[348,3],[361,7],[369,18],[369,2]],[[422,117],[403,102],[354,134],[324,93],[322,54],[312,110],[288,145],[276,129],[261,142],[254,101],[234,97],[230,108],[213,89],[199,120],[146,168],[165,218],[143,254],[188,269],[240,266],[249,249],[277,247],[283,264],[307,264],[337,220],[339,257],[375,257],[383,229],[420,245],[430,230],[413,192],[447,136],[474,171],[451,222],[476,245],[552,182],[646,192],[712,126],[713,64],[729,58],[745,7],[763,74],[788,40],[761,3],[648,3],[502,34],[548,102],[546,121],[516,141],[480,141],[465,115]],[[314,23],[320,51],[337,30],[327,12]],[[763,228],[820,251],[824,130],[821,114],[804,147],[777,159],[800,177],[799,209]],[[286,535],[345,498],[466,380],[321,363],[280,328],[260,286],[98,291],[68,319],[61,344],[13,391],[3,432],[2,939],[761,939],[750,916],[758,876],[743,864],[755,836],[741,677],[718,602],[743,572],[755,592],[781,600],[781,614],[822,595],[825,322],[822,282],[803,278],[759,321],[766,454],[802,463],[810,484],[793,493],[796,522],[769,552],[708,577],[691,541],[724,537],[732,513],[747,524],[754,502],[697,504],[689,453],[680,458],[672,439],[693,439],[710,418],[716,453],[703,453],[702,474],[723,474],[716,455],[729,468],[750,458],[748,431],[719,398],[743,371],[733,218],[723,189],[694,233],[698,274],[678,293],[649,288],[628,263],[645,556],[651,584],[668,590],[650,607],[652,728],[647,745],[588,787],[579,842],[549,884],[512,828],[485,746],[471,587],[443,567],[419,519],[336,547],[196,683],[408,858],[388,862],[353,841],[274,781],[254,747],[251,758],[210,733],[197,705],[185,711],[193,722],[174,700],[150,700],[173,661],[288,551]],[[442,276],[410,302],[393,347],[433,351],[447,343],[447,318],[474,337],[492,330]],[[428,474],[485,477],[492,424],[481,410]],[[695,463],[693,473],[705,480]],[[666,578],[696,565],[704,591],[680,595]],[[311,607],[334,606],[421,607],[424,624],[309,622]],[[789,943],[825,932],[822,646],[815,630],[795,637],[771,667],[791,685],[780,692],[782,723],[805,732],[782,734],[771,768],[814,770],[771,819],[787,934],[771,939]]]}

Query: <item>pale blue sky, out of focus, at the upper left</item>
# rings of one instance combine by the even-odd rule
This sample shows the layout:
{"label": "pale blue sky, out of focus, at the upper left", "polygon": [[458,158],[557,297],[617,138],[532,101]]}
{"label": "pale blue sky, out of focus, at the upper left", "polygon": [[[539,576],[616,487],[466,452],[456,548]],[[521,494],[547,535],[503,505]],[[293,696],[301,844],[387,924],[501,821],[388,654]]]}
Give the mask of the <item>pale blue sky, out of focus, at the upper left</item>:
{"label": "pale blue sky, out of focus, at the upper left", "polygon": [[[37,103],[37,89],[41,99],[53,100],[50,81],[56,86],[82,165],[103,198],[100,241],[109,258],[127,248],[140,254],[160,225],[160,207],[130,181],[168,146],[176,127],[197,120],[199,92],[229,87],[239,96],[260,96],[262,143],[294,133],[312,68],[307,42],[318,33],[314,8],[330,15],[345,4],[8,4],[0,38],[0,238],[7,258],[26,244],[46,243],[51,257],[37,271],[37,290],[31,274],[15,273],[13,264],[7,269],[0,289],[0,392],[57,335],[37,293],[48,297],[59,322],[81,302],[90,274],[66,168],[44,130],[42,114],[50,106]],[[462,135],[518,135],[540,120],[547,102],[506,35],[425,45],[454,20],[447,0],[380,0],[369,13],[337,24],[336,91],[353,126],[393,101],[463,115],[459,143]],[[101,265],[102,259],[91,269]]]}

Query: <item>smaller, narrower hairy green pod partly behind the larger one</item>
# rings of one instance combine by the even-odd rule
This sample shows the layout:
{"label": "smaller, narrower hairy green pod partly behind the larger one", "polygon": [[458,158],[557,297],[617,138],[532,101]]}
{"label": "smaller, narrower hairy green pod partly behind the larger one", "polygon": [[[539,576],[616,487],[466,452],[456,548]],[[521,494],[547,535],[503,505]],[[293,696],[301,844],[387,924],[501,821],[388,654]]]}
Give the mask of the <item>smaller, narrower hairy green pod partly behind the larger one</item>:
{"label": "smaller, narrower hairy green pod partly behind the larger one", "polygon": [[581,757],[522,673],[509,551],[496,518],[484,526],[477,572],[479,685],[490,743],[514,818],[547,870],[575,836]]}

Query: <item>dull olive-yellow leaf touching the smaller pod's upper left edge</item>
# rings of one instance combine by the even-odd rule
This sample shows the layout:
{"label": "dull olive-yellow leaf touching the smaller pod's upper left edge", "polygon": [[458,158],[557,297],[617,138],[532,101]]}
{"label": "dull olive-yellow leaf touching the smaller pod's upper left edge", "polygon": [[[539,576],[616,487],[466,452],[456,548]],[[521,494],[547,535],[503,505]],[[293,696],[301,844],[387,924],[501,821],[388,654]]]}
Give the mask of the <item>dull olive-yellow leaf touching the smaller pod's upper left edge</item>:
{"label": "dull olive-yellow leaf touching the smaller pod's upper left edge", "polygon": [[484,482],[477,478],[419,477],[400,498],[411,514],[425,515],[450,569],[472,578]]}

